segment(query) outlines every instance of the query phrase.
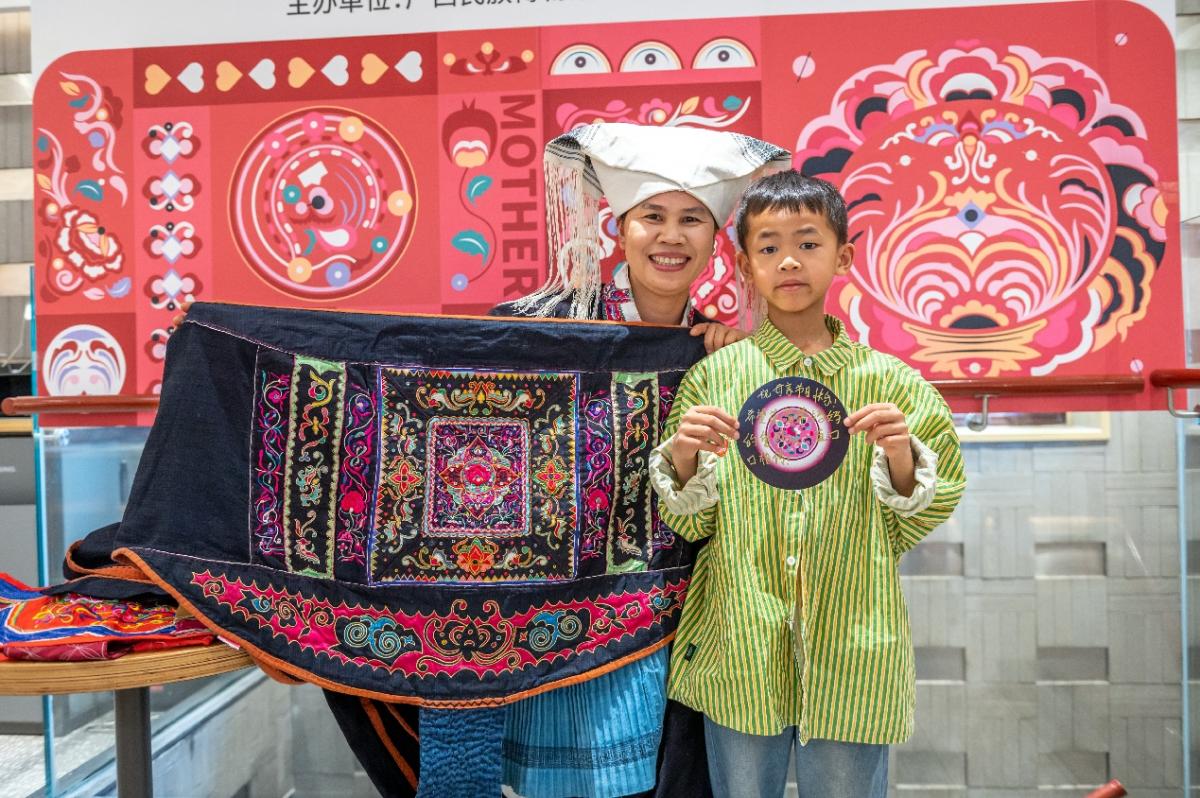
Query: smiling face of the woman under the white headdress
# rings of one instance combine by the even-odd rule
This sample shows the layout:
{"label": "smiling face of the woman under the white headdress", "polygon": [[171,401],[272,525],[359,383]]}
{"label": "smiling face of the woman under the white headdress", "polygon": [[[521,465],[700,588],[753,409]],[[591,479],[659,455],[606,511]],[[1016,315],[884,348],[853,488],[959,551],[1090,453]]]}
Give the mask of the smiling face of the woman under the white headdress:
{"label": "smiling face of the woman under the white headdress", "polygon": [[620,248],[635,295],[686,296],[713,257],[716,222],[702,202],[683,191],[655,194],[620,221]]}

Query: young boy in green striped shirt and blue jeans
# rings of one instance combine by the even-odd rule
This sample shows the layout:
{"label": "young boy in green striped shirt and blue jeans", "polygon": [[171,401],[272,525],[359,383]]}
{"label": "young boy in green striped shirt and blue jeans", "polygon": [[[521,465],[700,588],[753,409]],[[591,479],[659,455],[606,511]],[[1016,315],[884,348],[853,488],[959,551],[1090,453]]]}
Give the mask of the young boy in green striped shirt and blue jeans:
{"label": "young boy in green striped shirt and blue jeans", "polygon": [[[718,798],[782,796],[793,742],[800,798],[884,798],[916,680],[898,564],[962,496],[958,437],[929,383],[824,313],[854,258],[836,188],[794,170],[764,178],[737,233],[767,318],[689,371],[650,461],[662,518],[709,538],[668,695],[704,715]],[[845,460],[803,491],[760,481],[737,452],[743,402],[784,377],[822,383],[850,413]]]}

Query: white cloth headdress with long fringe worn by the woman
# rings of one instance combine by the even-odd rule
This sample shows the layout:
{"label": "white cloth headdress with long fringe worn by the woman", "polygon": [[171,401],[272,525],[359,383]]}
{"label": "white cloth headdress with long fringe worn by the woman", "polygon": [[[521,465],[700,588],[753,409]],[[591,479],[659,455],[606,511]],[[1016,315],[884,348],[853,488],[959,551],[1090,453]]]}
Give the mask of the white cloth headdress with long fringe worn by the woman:
{"label": "white cloth headdress with long fringe worn by the woman", "polygon": [[720,228],[764,167],[786,169],[792,154],[742,133],[696,127],[601,122],[546,145],[546,244],[550,277],[517,310],[550,314],[568,296],[571,316],[590,318],[600,298],[600,197],[613,216],[667,191],[684,191]]}

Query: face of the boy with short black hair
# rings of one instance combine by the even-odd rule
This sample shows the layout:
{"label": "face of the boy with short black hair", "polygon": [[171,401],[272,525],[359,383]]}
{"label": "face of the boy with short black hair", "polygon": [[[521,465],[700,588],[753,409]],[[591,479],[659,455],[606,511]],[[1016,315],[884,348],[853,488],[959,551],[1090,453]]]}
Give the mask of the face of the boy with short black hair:
{"label": "face of the boy with short black hair", "polygon": [[767,210],[750,220],[738,269],[779,313],[824,313],[833,278],[850,272],[854,245],[838,244],[829,221],[810,210]]}

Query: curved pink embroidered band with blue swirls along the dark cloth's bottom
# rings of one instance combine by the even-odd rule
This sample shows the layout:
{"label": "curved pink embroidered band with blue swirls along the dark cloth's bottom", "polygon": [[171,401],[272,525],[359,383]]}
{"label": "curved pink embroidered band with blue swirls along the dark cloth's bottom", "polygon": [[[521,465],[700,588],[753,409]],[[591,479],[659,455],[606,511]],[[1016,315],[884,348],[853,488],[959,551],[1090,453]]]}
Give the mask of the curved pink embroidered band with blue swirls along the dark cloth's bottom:
{"label": "curved pink embroidered band with blue swirls along the dark cloth's bottom", "polygon": [[[311,594],[193,572],[206,610],[338,666],[407,678],[479,679],[528,672],[600,653],[638,634],[674,628],[686,577],[646,590],[542,601],[512,610],[492,599],[454,599],[446,612],[343,604]],[[224,623],[224,620],[221,620]]]}

